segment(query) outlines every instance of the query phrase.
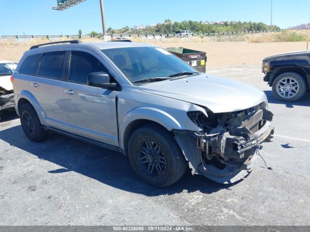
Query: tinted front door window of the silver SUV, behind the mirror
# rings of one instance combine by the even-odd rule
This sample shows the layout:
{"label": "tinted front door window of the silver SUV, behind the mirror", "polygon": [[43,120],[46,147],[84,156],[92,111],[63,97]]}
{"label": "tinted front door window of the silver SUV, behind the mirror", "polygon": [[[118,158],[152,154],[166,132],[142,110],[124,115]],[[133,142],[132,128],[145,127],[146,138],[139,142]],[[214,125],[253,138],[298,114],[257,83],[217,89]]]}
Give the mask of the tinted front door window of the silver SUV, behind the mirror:
{"label": "tinted front door window of the silver SUV, behind the mirror", "polygon": [[79,83],[87,83],[89,73],[106,72],[108,69],[93,55],[87,52],[72,51],[70,59],[69,79]]}

